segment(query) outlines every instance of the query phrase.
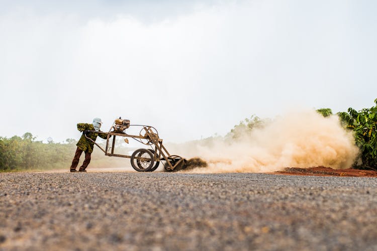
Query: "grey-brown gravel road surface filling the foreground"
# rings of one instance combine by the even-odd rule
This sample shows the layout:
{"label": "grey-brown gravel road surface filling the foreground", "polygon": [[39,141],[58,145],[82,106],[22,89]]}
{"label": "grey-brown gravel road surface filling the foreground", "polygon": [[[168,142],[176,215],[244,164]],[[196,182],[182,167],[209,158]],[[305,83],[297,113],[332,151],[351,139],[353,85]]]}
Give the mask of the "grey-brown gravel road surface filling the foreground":
{"label": "grey-brown gravel road surface filling the foreground", "polygon": [[377,179],[0,173],[0,250],[376,250]]}

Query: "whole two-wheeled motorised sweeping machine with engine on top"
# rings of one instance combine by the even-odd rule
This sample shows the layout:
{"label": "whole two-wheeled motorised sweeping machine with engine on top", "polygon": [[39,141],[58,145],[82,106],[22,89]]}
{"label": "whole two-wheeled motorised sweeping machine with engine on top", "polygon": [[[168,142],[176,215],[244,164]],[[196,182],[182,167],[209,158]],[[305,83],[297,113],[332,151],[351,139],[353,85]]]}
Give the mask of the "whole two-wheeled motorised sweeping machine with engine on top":
{"label": "whole two-wheeled motorised sweeping machine with engine on top", "polygon": [[[139,135],[129,135],[126,130],[130,127],[140,127]],[[94,132],[94,131],[88,131]],[[130,158],[132,167],[139,172],[153,172],[157,169],[160,162],[163,161],[164,169],[168,172],[177,171],[184,167],[186,160],[178,155],[170,155],[162,144],[162,139],[159,138],[158,132],[154,127],[144,126],[141,124],[130,124],[130,120],[122,119],[119,117],[115,119],[113,126],[110,128],[109,132],[104,134],[107,135],[106,148],[103,149],[95,141],[88,138],[86,139],[93,142],[98,146],[106,156],[115,156],[122,158]],[[124,141],[128,143],[128,138],[134,139],[146,146],[149,149],[141,148],[133,152],[131,156],[115,154],[115,139],[116,137],[123,137]]]}

